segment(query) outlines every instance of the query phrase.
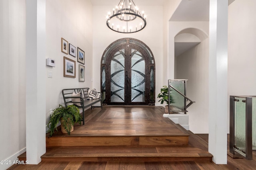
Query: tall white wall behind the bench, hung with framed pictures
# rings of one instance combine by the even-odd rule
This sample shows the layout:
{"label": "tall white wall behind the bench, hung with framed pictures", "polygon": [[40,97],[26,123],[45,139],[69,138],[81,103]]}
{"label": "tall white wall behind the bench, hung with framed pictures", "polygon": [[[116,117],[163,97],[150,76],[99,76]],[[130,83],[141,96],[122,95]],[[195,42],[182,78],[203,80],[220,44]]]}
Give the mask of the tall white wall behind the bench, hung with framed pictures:
{"label": "tall white wall behind the bench, hung with framed pictures", "polygon": [[[61,38],[85,53],[85,82],[78,82],[77,57],[61,52]],[[63,58],[76,61],[76,78],[63,76]],[[92,88],[92,4],[90,0],[46,1],[46,57],[55,60],[56,67],[46,66],[46,124],[50,109],[64,104],[62,89]],[[52,71],[53,78],[47,78]]]}

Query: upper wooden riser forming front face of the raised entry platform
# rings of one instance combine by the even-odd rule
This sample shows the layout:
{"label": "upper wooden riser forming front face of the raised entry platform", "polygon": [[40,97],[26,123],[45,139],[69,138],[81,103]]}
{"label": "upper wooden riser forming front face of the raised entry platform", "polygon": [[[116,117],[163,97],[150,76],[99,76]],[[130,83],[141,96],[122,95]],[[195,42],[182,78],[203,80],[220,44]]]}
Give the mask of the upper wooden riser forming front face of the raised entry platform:
{"label": "upper wooden riser forming front face of the raised entry platform", "polygon": [[85,146],[187,146],[185,136],[46,137],[46,147]]}

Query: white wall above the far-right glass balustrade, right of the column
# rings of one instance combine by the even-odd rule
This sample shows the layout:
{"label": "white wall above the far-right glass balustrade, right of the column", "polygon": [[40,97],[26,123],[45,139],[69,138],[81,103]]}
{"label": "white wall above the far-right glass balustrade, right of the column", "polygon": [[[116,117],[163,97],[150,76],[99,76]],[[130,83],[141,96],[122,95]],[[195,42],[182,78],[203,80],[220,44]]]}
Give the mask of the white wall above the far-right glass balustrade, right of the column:
{"label": "white wall above the far-right glass balustrade, right of the column", "polygon": [[255,0],[228,7],[228,95],[256,95],[255,8]]}

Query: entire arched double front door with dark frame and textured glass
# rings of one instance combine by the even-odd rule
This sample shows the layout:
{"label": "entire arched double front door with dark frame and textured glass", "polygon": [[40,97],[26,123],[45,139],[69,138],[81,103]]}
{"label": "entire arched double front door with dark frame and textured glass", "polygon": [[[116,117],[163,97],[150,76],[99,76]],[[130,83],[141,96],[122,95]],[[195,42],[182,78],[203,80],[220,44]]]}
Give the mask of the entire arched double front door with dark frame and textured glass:
{"label": "entire arched double front door with dark frame and textured glass", "polygon": [[154,105],[155,64],[150,49],[136,39],[120,39],[105,51],[101,92],[108,105]]}

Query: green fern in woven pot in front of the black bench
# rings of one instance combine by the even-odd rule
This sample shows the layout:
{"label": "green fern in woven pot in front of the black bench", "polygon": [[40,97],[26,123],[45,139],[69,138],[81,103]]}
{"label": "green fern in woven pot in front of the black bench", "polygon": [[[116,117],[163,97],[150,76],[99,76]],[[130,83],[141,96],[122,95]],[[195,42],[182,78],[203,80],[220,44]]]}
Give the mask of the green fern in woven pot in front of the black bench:
{"label": "green fern in woven pot in front of the black bench", "polygon": [[61,131],[62,133],[68,133],[74,130],[74,123],[79,123],[81,125],[81,115],[78,107],[74,105],[69,105],[64,107],[60,105],[56,109],[53,110],[52,114],[50,115],[50,121],[47,124],[49,130],[47,133],[50,133],[50,137],[57,130],[57,125],[61,123]]}

